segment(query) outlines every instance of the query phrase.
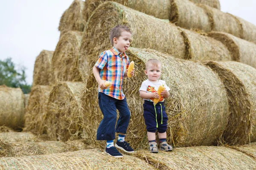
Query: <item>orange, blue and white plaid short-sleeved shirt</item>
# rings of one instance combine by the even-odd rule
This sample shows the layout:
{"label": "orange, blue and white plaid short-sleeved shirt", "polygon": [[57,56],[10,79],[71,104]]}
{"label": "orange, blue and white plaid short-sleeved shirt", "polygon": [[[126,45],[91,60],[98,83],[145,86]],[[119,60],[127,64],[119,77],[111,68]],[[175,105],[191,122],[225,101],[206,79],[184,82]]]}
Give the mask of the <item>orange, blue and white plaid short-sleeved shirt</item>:
{"label": "orange, blue and white plaid short-sleeved shirt", "polygon": [[110,81],[111,85],[106,89],[98,87],[98,91],[115,99],[124,99],[125,94],[122,92],[122,82],[129,64],[129,57],[125,53],[119,53],[114,47],[111,50],[102,52],[95,66],[101,69],[99,71],[100,78]]}

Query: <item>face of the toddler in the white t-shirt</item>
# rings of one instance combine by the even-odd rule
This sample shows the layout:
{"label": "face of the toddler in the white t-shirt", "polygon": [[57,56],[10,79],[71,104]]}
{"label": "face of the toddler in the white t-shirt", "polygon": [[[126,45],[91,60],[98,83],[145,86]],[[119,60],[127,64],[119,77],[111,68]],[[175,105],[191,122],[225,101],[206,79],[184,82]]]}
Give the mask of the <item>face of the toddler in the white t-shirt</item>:
{"label": "face of the toddler in the white t-shirt", "polygon": [[161,76],[161,65],[152,65],[151,63],[148,63],[145,74],[148,76],[150,81],[157,81]]}

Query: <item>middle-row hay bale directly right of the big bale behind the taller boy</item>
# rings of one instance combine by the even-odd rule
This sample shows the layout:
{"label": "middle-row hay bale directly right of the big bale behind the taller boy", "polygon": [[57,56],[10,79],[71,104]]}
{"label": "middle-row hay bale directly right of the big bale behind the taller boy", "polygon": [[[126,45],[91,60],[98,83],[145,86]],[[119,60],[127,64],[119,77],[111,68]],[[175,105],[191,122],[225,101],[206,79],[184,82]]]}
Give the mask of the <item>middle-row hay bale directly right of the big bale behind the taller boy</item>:
{"label": "middle-row hay bale directly right of the big bale behind the taller boy", "polygon": [[185,59],[210,59],[216,61],[231,60],[230,51],[228,51],[228,48],[220,41],[198,34],[194,31],[189,31],[183,28],[179,29],[183,34],[184,42],[186,44]]}

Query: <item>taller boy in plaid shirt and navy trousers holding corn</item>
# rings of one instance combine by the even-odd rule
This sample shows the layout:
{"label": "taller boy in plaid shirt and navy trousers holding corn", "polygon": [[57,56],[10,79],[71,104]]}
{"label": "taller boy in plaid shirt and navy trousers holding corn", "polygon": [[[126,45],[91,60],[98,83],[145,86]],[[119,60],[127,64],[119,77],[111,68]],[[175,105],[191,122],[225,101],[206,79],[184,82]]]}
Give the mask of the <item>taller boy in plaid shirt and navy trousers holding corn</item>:
{"label": "taller boy in plaid shirt and navy trousers holding corn", "polygon": [[[103,114],[103,119],[97,130],[97,140],[107,141],[105,153],[116,158],[122,158],[122,154],[119,153],[116,147],[127,153],[134,152],[129,143],[125,141],[130,111],[125,94],[122,92],[122,80],[123,77],[127,77],[130,64],[125,51],[130,46],[131,31],[127,26],[117,25],[110,31],[110,40],[113,48],[102,52],[93,67],[93,75],[99,84],[99,107]],[[134,76],[134,70],[131,71],[131,76]],[[111,82],[108,88],[104,84],[105,81]],[[116,109],[120,113],[117,125]],[[115,132],[119,135],[114,147]]]}

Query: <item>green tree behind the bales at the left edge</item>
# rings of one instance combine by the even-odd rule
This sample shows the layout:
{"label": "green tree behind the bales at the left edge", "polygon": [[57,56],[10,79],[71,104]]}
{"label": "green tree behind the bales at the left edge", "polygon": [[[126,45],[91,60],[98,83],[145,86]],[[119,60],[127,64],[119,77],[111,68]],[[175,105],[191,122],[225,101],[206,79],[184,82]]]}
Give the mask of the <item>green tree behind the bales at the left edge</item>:
{"label": "green tree behind the bales at the left edge", "polygon": [[26,82],[25,70],[24,66],[16,69],[10,57],[0,60],[0,85],[12,88],[20,87],[24,94],[28,94],[31,91],[31,85]]}

